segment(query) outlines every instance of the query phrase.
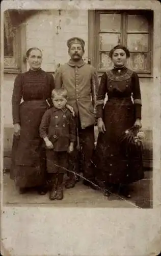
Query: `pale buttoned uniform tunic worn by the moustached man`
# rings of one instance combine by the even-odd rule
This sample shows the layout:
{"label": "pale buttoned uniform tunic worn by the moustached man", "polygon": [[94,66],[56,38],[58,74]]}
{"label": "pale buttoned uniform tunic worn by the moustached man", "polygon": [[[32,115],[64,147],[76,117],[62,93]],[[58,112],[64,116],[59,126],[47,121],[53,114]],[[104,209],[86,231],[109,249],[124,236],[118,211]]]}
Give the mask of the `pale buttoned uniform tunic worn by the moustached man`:
{"label": "pale buttoned uniform tunic worn by the moustached man", "polygon": [[81,60],[77,63],[69,60],[62,65],[55,76],[56,88],[62,86],[68,92],[68,104],[79,114],[82,129],[95,122],[94,107],[96,104],[99,80],[96,70]]}

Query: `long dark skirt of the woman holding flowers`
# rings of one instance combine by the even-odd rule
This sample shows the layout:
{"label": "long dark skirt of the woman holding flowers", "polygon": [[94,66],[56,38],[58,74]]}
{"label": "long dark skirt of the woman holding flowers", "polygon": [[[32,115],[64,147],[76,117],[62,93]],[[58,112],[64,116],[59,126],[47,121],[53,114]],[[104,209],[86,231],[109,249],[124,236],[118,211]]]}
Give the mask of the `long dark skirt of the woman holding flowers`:
{"label": "long dark skirt of the woman holding flowers", "polygon": [[128,157],[122,151],[119,138],[135,122],[135,108],[126,99],[106,102],[103,121],[106,132],[99,133],[94,163],[98,180],[111,184],[128,184],[144,178],[142,152]]}

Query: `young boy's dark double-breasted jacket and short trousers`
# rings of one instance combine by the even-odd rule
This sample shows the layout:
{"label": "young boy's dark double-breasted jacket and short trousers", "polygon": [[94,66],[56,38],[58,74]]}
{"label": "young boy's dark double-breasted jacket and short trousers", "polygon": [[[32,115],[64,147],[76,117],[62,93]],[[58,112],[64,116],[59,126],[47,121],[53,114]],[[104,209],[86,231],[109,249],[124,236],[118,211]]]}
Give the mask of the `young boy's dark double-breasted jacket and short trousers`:
{"label": "young boy's dark double-breasted jacket and short trousers", "polygon": [[72,113],[67,109],[57,109],[53,106],[47,110],[40,124],[40,137],[48,139],[53,144],[53,150],[46,150],[48,173],[66,173],[70,142],[75,141],[75,123]]}

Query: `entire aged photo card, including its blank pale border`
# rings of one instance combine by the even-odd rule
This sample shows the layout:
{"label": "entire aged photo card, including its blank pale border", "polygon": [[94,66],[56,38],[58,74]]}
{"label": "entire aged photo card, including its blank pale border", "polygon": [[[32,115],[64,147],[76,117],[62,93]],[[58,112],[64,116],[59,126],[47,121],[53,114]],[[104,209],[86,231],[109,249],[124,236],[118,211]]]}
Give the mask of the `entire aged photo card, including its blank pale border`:
{"label": "entire aged photo card, including its blank pale border", "polygon": [[[37,221],[42,220],[40,215],[37,219],[37,210],[41,215],[45,210],[50,216],[59,216],[53,219],[58,224],[64,220],[62,229],[62,223],[68,223],[61,217],[66,211],[66,220],[71,217],[71,222],[74,211],[83,218],[83,212],[89,212],[89,236],[99,224],[97,220],[93,226],[92,216],[94,220],[96,211],[102,210],[99,216],[103,217],[98,218],[100,232],[116,234],[112,220],[116,218],[118,223],[122,220],[115,224],[117,230],[127,225],[129,230],[136,230],[138,237],[134,239],[135,234],[126,232],[131,239],[123,234],[125,242],[113,246],[108,252],[111,254],[104,247],[99,254],[98,244],[98,250],[94,249],[96,244],[92,249],[88,243],[85,248],[76,246],[77,239],[73,238],[75,250],[68,248],[67,254],[59,254],[65,249],[57,244],[52,254],[51,247],[46,251],[43,244],[43,255],[154,255],[147,251],[143,254],[147,245],[136,244],[141,238],[153,241],[152,234],[144,236],[148,222],[149,229],[155,226],[158,232],[160,227],[160,222],[154,223],[155,218],[148,219],[150,212],[144,217],[160,202],[158,1],[4,2],[9,3],[1,10],[1,201],[5,209],[5,245],[12,255],[42,255],[37,254],[36,247],[25,254],[24,248],[36,236],[31,227],[43,227],[30,219],[29,233],[20,228],[20,223],[26,225],[31,218],[29,209]],[[25,214],[21,214],[23,210]],[[103,211],[109,211],[112,231],[103,231],[108,225]],[[142,230],[134,212],[144,220]],[[17,218],[18,227],[11,217]],[[81,218],[77,221],[78,225]],[[8,239],[5,229],[9,223],[27,238],[24,247],[17,247],[18,238],[11,245],[13,237]],[[73,229],[81,230],[76,225]],[[65,230],[70,238],[68,225]],[[65,236],[66,231],[60,232]],[[100,243],[105,246],[103,239]],[[123,243],[127,246],[121,247]],[[117,254],[119,248],[122,254]]]}

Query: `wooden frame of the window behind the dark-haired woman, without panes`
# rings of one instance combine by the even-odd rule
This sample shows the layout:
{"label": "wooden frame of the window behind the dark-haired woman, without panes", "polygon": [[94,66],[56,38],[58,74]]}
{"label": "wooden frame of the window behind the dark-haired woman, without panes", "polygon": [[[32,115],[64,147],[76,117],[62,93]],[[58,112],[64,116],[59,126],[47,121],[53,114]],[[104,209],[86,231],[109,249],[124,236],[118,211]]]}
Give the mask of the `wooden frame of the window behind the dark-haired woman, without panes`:
{"label": "wooden frame of the window behind the dark-haired woman, without panes", "polygon": [[[127,45],[127,15],[143,15],[146,16],[149,20],[149,11],[145,10],[89,10],[89,19],[88,19],[88,31],[89,31],[89,44],[88,44],[88,54],[91,59],[91,65],[96,69],[99,63],[99,15],[100,14],[121,14],[121,43]],[[150,11],[150,21],[148,22],[148,52],[149,52],[149,62],[150,62],[150,71],[138,72],[139,77],[152,77],[152,67],[153,67],[153,12]],[[102,32],[103,33],[103,32]],[[112,33],[112,32],[109,32]],[[117,34],[114,32],[114,34]],[[131,32],[131,34],[144,34],[142,32]],[[147,34],[147,32],[146,32]],[[102,51],[103,52],[103,51]],[[104,51],[105,52],[105,51]],[[133,52],[130,52],[133,53]],[[139,52],[138,52],[139,53]],[[106,70],[97,69],[98,75],[101,76]]]}

